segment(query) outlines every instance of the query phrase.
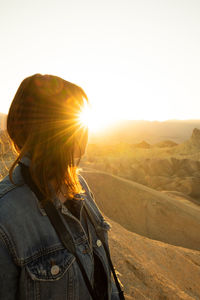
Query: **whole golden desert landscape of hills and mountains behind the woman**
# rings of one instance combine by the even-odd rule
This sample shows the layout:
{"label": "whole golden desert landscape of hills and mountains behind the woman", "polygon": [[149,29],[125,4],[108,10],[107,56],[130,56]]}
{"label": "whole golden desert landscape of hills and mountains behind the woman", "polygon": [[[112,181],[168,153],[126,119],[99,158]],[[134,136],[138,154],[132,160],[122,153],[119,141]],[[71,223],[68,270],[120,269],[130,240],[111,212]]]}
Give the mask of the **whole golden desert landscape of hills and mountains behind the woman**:
{"label": "whole golden desert landscape of hills and mountains behind the woman", "polygon": [[[91,136],[80,164],[126,297],[200,299],[200,121],[126,126]],[[3,130],[0,146],[3,178],[15,157]]]}

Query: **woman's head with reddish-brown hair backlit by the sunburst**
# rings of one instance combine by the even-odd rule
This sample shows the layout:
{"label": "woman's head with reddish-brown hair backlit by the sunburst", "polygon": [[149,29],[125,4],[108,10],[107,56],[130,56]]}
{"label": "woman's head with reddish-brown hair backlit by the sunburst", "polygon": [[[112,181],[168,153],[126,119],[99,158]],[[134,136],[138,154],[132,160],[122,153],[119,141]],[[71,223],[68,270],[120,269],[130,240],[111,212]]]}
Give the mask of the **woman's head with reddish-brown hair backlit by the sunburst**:
{"label": "woman's head with reddish-brown hair backlit by the sunburst", "polygon": [[57,76],[35,74],[22,81],[7,118],[18,152],[10,177],[21,157],[28,155],[33,180],[46,196],[50,180],[57,191],[63,183],[69,195],[81,191],[75,159],[81,158],[87,144],[87,129],[79,122],[85,101],[79,86]]}

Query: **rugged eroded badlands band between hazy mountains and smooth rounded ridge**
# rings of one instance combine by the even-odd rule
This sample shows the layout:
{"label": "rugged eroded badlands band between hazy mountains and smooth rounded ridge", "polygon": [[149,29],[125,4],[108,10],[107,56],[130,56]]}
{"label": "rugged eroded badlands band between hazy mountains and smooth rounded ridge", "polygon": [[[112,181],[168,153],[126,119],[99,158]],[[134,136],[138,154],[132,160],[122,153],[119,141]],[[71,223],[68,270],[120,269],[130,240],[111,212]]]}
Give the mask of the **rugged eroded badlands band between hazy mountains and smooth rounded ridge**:
{"label": "rugged eroded badlands band between hazy mountains and smooth rounded ridge", "polygon": [[200,129],[176,144],[89,145],[83,168],[101,170],[158,191],[177,191],[200,204]]}

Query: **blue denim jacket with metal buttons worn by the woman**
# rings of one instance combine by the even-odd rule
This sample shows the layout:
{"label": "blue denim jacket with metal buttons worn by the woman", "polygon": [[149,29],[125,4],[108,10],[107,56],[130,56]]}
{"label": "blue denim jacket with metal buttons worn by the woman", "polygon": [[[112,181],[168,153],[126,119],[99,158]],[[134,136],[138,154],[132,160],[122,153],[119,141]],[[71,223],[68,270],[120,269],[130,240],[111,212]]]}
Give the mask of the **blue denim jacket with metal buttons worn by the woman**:
{"label": "blue denim jacket with metal buttons worn by the woman", "polygon": [[[29,163],[25,157],[22,161]],[[19,166],[13,179],[17,185],[8,176],[0,182],[0,300],[90,300],[75,257],[64,248],[35,194],[24,184]],[[85,191],[81,194],[83,206],[92,210],[98,229],[108,242],[110,225],[80,175],[79,180]],[[88,221],[91,247],[81,218],[75,218],[56,196],[53,201],[72,234],[76,253],[91,284],[94,251],[107,275],[108,299],[118,300],[107,256],[94,226]]]}

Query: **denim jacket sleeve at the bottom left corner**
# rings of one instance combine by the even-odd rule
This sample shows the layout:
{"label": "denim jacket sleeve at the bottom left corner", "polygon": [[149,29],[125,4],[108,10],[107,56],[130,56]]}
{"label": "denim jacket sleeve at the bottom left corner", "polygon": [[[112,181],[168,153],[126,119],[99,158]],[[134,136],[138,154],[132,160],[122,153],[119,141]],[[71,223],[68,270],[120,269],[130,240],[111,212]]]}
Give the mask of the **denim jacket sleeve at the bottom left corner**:
{"label": "denim jacket sleeve at the bottom left corner", "polygon": [[20,270],[0,240],[0,300],[16,300]]}

